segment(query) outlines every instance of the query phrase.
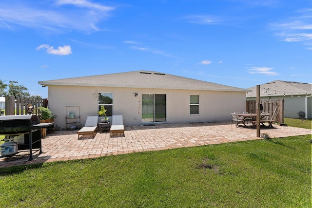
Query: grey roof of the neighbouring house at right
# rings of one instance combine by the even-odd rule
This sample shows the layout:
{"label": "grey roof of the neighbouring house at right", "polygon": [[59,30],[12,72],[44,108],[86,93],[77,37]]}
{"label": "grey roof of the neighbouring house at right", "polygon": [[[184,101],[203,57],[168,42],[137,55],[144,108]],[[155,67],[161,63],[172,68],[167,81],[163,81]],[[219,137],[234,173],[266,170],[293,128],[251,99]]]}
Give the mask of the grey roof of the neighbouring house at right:
{"label": "grey roof of the neighbouring house at right", "polygon": [[[256,86],[248,88],[247,97],[256,97]],[[260,85],[260,97],[283,95],[311,95],[312,84],[274,80]]]}

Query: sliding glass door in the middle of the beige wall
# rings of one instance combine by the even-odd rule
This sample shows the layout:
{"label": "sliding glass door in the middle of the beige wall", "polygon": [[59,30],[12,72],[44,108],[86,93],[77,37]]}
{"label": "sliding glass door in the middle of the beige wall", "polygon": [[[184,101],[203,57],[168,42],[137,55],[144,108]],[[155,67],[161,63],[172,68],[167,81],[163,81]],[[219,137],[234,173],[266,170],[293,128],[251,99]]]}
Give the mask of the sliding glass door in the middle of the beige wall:
{"label": "sliding glass door in the middle of the beige wall", "polygon": [[142,95],[142,122],[166,122],[166,95]]}

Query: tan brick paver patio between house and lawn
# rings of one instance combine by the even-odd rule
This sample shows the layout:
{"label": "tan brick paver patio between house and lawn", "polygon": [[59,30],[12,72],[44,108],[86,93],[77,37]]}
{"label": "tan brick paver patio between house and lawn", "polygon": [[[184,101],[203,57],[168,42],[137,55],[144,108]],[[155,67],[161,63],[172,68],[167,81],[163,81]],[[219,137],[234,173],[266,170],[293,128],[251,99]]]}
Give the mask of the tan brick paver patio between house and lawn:
{"label": "tan brick paver patio between house and lawn", "polygon": [[[271,138],[312,134],[309,129],[273,125],[261,129]],[[236,127],[231,122],[204,122],[158,124],[155,126],[126,126],[125,135],[110,133],[84,135],[78,139],[77,131],[57,131],[42,139],[42,154],[0,157],[0,168],[44,162],[96,158],[112,154],[139,151],[159,151],[181,147],[221,144],[226,142],[261,139],[252,128]]]}

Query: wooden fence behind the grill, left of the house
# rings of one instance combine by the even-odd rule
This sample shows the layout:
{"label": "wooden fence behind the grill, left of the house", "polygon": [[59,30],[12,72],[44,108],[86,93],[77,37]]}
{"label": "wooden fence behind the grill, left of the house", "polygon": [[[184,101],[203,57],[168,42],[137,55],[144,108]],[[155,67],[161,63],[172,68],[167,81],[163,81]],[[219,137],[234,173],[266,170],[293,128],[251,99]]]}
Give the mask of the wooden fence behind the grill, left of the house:
{"label": "wooden fence behind the grill, left of the house", "polygon": [[38,107],[48,107],[48,100],[40,97],[5,96],[5,115],[28,114],[28,107],[33,107],[33,114],[38,114]]}

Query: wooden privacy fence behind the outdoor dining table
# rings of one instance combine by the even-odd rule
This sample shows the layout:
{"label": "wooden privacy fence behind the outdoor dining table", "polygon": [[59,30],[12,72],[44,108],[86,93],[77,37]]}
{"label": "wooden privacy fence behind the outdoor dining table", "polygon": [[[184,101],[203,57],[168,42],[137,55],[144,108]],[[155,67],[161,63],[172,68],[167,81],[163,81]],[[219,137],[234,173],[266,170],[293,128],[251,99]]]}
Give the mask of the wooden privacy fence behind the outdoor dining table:
{"label": "wooden privacy fence behind the outdoor dining table", "polygon": [[[277,123],[284,123],[284,99],[270,99],[260,100],[263,110],[261,112],[270,113],[270,118],[276,113],[275,118]],[[249,113],[256,113],[256,102],[255,100],[246,101],[246,111]]]}

